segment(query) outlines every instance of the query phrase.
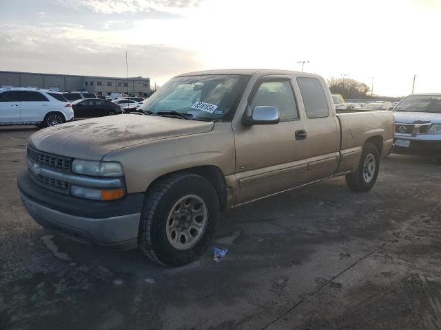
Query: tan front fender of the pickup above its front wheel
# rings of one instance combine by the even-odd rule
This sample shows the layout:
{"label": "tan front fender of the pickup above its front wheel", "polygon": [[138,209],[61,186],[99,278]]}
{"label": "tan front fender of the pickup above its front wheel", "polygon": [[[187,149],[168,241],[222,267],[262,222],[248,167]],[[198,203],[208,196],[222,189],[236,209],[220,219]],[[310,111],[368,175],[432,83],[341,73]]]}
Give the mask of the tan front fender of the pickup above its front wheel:
{"label": "tan front fender of the pickup above its front wheel", "polygon": [[112,151],[103,160],[121,162],[127,192],[144,192],[168,173],[198,166],[216,166],[225,176],[234,173],[231,123],[216,123],[207,133],[183,135]]}

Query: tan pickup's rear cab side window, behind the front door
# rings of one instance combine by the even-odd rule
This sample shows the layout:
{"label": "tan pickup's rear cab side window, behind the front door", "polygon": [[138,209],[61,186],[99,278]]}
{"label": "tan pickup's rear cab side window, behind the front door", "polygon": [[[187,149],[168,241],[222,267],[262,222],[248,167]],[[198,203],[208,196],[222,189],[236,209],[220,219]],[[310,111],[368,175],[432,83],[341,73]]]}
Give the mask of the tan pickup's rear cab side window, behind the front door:
{"label": "tan pickup's rear cab side window, behind the front door", "polygon": [[316,78],[297,78],[308,118],[324,118],[329,115],[328,102],[322,84]]}

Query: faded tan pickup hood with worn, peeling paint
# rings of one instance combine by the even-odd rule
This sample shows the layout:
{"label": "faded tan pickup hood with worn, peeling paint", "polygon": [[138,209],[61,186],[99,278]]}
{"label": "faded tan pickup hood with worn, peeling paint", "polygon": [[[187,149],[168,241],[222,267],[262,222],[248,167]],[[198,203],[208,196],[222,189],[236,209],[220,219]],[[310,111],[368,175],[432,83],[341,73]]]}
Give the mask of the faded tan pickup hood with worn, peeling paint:
{"label": "faded tan pickup hood with worn, peeling paint", "polygon": [[154,115],[110,115],[42,129],[28,142],[40,151],[100,160],[119,148],[212,131],[214,123]]}

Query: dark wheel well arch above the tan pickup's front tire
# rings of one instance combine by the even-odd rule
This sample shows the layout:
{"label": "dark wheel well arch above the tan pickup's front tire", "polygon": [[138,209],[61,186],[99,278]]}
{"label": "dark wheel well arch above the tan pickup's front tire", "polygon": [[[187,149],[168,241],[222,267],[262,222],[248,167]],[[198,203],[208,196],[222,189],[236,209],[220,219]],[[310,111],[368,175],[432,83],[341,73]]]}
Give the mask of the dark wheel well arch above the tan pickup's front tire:
{"label": "dark wheel well arch above the tan pickup's front tire", "polygon": [[213,185],[219,199],[220,210],[225,210],[227,206],[227,184],[225,183],[225,177],[223,175],[222,170],[214,165],[205,165],[205,166],[196,166],[191,168],[185,168],[183,170],[177,170],[176,172],[167,173],[162,175],[161,177],[156,178],[150,186],[147,188],[146,193],[150,191],[152,186],[156,183],[156,181],[167,177],[168,175],[172,175],[180,172],[189,172],[197,175],[201,175],[201,177],[205,177],[210,184]]}

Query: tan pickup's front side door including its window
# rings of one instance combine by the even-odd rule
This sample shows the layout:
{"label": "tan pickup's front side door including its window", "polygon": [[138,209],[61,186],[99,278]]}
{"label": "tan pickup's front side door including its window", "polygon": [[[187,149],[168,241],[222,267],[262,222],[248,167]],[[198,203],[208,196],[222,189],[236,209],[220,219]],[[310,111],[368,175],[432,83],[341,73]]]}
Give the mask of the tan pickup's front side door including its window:
{"label": "tan pickup's front side door including its window", "polygon": [[251,110],[276,107],[280,122],[234,124],[236,205],[299,186],[307,172],[306,142],[301,134],[305,124],[300,120],[291,77],[263,76],[254,85],[248,105]]}

